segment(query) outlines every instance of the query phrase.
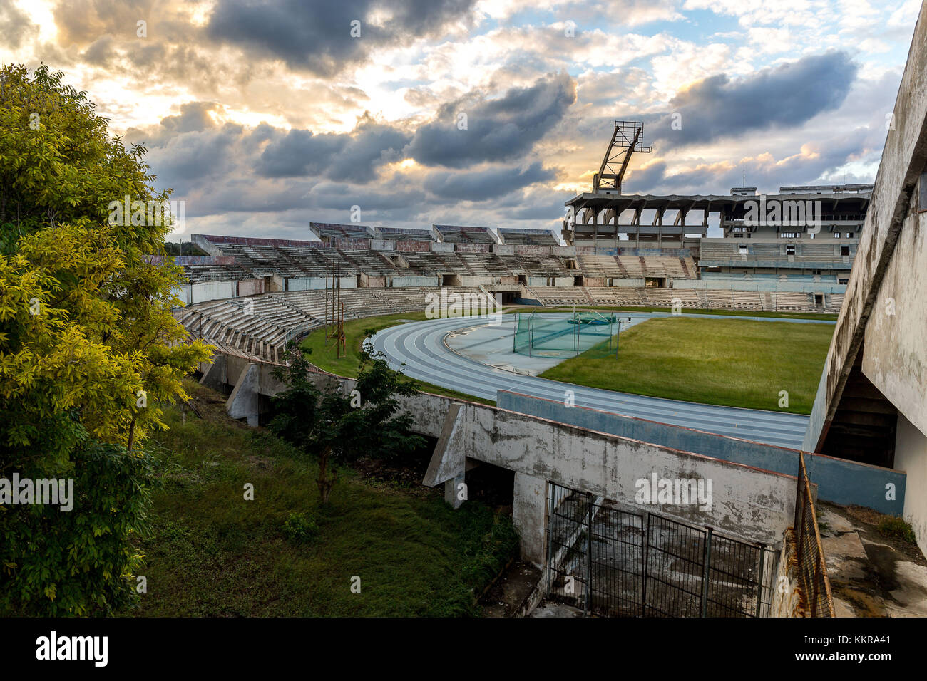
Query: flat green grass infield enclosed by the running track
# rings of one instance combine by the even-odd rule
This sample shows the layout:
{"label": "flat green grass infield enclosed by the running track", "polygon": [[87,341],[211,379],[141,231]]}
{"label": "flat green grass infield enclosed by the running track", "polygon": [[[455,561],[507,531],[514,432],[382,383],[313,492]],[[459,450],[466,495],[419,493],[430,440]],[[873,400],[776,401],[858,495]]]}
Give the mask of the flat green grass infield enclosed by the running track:
{"label": "flat green grass infield enclosed by the running track", "polygon": [[[658,318],[622,332],[617,359],[603,343],[540,375],[637,395],[806,414],[814,403],[833,328]],[[789,394],[787,409],[779,407],[781,390]]]}

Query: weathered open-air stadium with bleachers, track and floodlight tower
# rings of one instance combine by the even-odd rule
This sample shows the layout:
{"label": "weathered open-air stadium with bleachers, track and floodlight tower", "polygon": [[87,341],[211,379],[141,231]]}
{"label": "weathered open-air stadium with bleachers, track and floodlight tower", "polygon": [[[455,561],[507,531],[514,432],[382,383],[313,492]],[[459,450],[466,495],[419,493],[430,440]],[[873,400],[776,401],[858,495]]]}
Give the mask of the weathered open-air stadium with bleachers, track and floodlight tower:
{"label": "weathered open-air stadium with bleachers, track and floodlight tower", "polygon": [[[887,146],[875,184],[622,194],[649,151],[643,123],[616,120],[560,234],[325,222],[303,240],[192,234],[206,255],[174,258],[188,282],[175,316],[218,348],[201,383],[259,425],[273,366],[298,348],[346,393],[353,353],[381,353],[420,382],[405,404],[434,444],[425,486],[456,509],[487,471],[502,480],[538,575],[521,612],[852,614],[816,520],[832,511],[816,506],[905,517],[927,542],[907,407],[860,371],[858,346],[841,356],[832,342],[864,323],[847,298],[882,276],[859,259],[886,219],[873,207],[906,191],[886,169],[918,161]],[[796,586],[777,590],[783,578]]]}

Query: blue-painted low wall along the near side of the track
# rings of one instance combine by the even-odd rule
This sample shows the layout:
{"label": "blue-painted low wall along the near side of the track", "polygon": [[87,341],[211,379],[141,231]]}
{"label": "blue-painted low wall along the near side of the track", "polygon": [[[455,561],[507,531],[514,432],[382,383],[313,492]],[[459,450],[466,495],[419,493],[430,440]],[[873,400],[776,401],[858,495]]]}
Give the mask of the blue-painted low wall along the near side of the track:
{"label": "blue-painted low wall along the near side of the track", "polygon": [[[659,443],[666,447],[743,463],[776,473],[794,475],[798,470],[797,449],[765,445],[739,437],[716,435],[588,407],[566,407],[563,402],[529,397],[506,390],[500,390],[496,394],[496,404],[505,410],[571,423],[603,433],[623,435],[642,442]],[[903,470],[809,453],[805,455],[805,463],[808,478],[818,485],[819,498],[837,504],[866,506],[894,515],[900,515],[905,508],[907,475]],[[885,498],[888,485],[895,490],[894,498]]]}

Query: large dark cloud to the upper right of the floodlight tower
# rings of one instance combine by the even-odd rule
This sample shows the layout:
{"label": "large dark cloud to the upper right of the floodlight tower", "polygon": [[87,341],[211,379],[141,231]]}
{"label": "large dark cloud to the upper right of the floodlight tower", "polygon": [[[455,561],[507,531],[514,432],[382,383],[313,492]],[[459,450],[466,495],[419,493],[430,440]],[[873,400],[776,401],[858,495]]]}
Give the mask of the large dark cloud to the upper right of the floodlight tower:
{"label": "large dark cloud to the upper right of the floodlight tower", "polygon": [[[794,127],[840,107],[856,79],[857,65],[845,52],[804,57],[732,81],[720,74],[680,91],[671,112],[654,117],[648,132],[667,148],[736,137],[745,132]],[[673,130],[673,114],[681,129]]]}

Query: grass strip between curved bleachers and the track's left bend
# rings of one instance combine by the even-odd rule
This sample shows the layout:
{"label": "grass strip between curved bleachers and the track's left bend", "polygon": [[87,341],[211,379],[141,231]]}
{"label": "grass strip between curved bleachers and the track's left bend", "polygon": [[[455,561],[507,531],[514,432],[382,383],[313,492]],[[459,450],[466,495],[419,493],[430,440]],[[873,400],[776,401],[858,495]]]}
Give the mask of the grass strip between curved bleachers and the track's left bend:
{"label": "grass strip between curved bleachers and the track's left bend", "polygon": [[[425,312],[402,312],[399,314],[386,314],[378,317],[362,317],[361,319],[350,320],[345,322],[345,347],[348,351],[347,356],[337,357],[337,347],[335,341],[325,338],[324,329],[314,329],[307,335],[300,347],[303,350],[311,350],[307,359],[312,364],[319,367],[325,372],[337,373],[339,376],[348,376],[354,378],[358,372],[358,362],[364,338],[364,329],[375,329],[382,331],[390,326],[395,326],[402,322],[420,322],[425,320]],[[425,383],[425,381],[415,380],[420,390],[426,393],[435,393],[446,397],[457,399],[466,399],[472,402],[481,402],[483,404],[494,405],[495,401],[473,397],[465,393],[449,390],[440,385]]]}

